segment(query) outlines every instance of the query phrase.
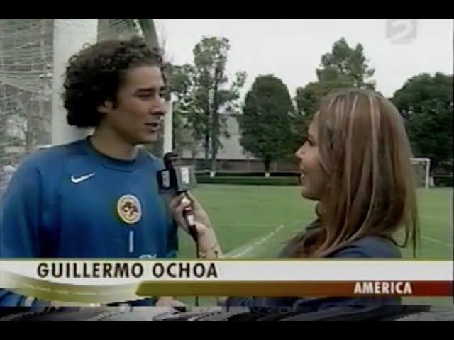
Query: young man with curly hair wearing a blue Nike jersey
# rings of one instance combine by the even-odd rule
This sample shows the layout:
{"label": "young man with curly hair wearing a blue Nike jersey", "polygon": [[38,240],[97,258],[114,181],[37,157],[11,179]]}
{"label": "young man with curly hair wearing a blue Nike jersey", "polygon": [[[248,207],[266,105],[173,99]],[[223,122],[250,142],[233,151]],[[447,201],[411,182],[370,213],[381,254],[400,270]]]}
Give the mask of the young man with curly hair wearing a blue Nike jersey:
{"label": "young man with curly hair wearing a blue Nike jersey", "polygon": [[[140,148],[165,114],[160,55],[140,38],[100,42],[70,58],[64,87],[67,122],[94,133],[22,162],[0,210],[0,257],[175,256],[162,162]],[[21,299],[0,290],[0,305]]]}

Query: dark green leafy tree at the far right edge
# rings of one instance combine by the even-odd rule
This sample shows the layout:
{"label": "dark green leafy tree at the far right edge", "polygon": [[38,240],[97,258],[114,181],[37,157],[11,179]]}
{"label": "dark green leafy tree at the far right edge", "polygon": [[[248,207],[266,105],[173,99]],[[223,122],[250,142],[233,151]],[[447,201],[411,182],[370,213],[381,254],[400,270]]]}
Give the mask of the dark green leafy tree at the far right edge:
{"label": "dark green leafy tree at the far right edge", "polygon": [[453,159],[453,75],[423,73],[408,79],[391,99],[402,113],[416,157],[433,167]]}

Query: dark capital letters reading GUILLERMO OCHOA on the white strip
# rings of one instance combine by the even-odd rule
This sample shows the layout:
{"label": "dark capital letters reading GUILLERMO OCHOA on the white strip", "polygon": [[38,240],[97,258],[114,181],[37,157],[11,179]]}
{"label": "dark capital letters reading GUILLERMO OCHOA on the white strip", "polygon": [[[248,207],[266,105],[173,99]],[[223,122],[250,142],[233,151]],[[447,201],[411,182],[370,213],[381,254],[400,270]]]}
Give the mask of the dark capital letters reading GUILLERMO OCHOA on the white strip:
{"label": "dark capital letters reading GUILLERMO OCHOA on the white strip", "polygon": [[210,262],[41,262],[36,266],[40,278],[218,278]]}

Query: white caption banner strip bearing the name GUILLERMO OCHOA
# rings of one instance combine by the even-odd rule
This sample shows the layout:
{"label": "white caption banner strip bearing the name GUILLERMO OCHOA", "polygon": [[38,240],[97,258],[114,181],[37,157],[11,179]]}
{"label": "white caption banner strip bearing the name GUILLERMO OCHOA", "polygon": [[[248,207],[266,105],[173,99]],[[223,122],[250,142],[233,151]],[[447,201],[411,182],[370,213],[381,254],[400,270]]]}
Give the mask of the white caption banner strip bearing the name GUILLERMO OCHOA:
{"label": "white caption banner strip bearing the name GUILLERMO OCHOA", "polygon": [[404,260],[121,260],[0,261],[6,274],[70,285],[147,281],[452,281],[453,261]]}

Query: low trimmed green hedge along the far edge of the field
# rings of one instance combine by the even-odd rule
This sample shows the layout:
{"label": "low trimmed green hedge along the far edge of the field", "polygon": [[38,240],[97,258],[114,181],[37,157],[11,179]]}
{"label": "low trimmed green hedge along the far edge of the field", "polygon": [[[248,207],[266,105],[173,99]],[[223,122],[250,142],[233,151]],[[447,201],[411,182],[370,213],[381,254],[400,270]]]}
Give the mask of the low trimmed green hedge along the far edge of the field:
{"label": "low trimmed green hedge along the far edge of the field", "polygon": [[253,177],[253,176],[196,176],[201,184],[242,184],[251,186],[299,186],[299,178],[292,177]]}

